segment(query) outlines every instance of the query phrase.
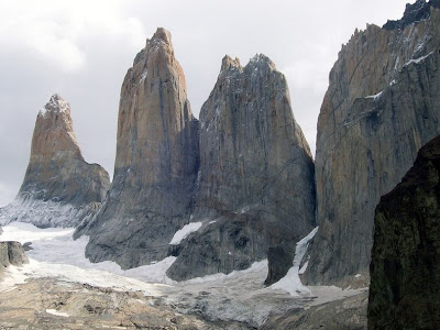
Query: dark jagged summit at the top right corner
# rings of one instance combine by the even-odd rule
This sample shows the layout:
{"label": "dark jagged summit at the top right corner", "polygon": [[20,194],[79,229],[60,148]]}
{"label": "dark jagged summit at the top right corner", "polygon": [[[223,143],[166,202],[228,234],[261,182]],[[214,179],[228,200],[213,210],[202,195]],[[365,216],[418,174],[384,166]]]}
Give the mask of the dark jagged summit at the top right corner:
{"label": "dark jagged summit at the top right corner", "polygon": [[431,14],[431,7],[440,8],[440,0],[417,0],[414,4],[407,3],[404,16],[397,21],[387,21],[383,29],[403,30],[413,23],[427,20]]}

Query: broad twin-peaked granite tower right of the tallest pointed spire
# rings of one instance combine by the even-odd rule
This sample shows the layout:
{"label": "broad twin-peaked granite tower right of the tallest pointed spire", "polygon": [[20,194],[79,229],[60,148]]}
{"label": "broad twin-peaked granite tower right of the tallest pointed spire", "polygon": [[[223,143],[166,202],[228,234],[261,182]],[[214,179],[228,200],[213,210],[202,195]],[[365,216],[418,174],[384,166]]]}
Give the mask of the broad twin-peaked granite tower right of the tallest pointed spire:
{"label": "broad twin-peaked granite tower right of the tallest pointed spire", "polygon": [[[204,226],[180,244],[167,272],[177,280],[248,268],[266,258],[270,248],[295,251],[315,226],[309,146],[294,119],[286,79],[264,55],[245,67],[226,56],[202,106],[191,221]],[[287,257],[286,270],[274,272],[267,284],[292,267],[293,253]]]}

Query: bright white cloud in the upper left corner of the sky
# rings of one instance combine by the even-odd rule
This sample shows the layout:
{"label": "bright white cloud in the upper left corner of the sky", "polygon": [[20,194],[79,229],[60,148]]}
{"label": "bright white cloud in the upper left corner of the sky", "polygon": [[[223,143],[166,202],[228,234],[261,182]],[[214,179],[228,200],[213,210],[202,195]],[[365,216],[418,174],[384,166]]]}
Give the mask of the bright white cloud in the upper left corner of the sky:
{"label": "bright white cloud in the upper left corner of the sky", "polygon": [[84,37],[124,37],[132,44],[143,40],[140,20],[123,16],[125,1],[19,0],[2,3],[2,47],[35,52],[66,73],[77,72],[87,61]]}

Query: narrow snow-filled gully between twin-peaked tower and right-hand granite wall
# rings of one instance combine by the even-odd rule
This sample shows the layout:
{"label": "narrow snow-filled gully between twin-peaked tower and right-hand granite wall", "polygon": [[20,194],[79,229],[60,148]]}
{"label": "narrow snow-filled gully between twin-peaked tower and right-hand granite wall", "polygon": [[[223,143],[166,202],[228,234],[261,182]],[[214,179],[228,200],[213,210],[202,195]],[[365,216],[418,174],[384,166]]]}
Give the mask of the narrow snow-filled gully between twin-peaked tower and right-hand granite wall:
{"label": "narrow snow-filled gully between twin-peaked tower and right-hand granite wall", "polygon": [[307,252],[309,242],[315,237],[317,231],[318,227],[296,244],[294,266],[287,272],[286,276],[284,276],[277,283],[271,285],[270,288],[282,289],[288,292],[290,296],[296,297],[311,295],[310,289],[302,285],[301,279],[299,278],[299,266],[304,255]]}

